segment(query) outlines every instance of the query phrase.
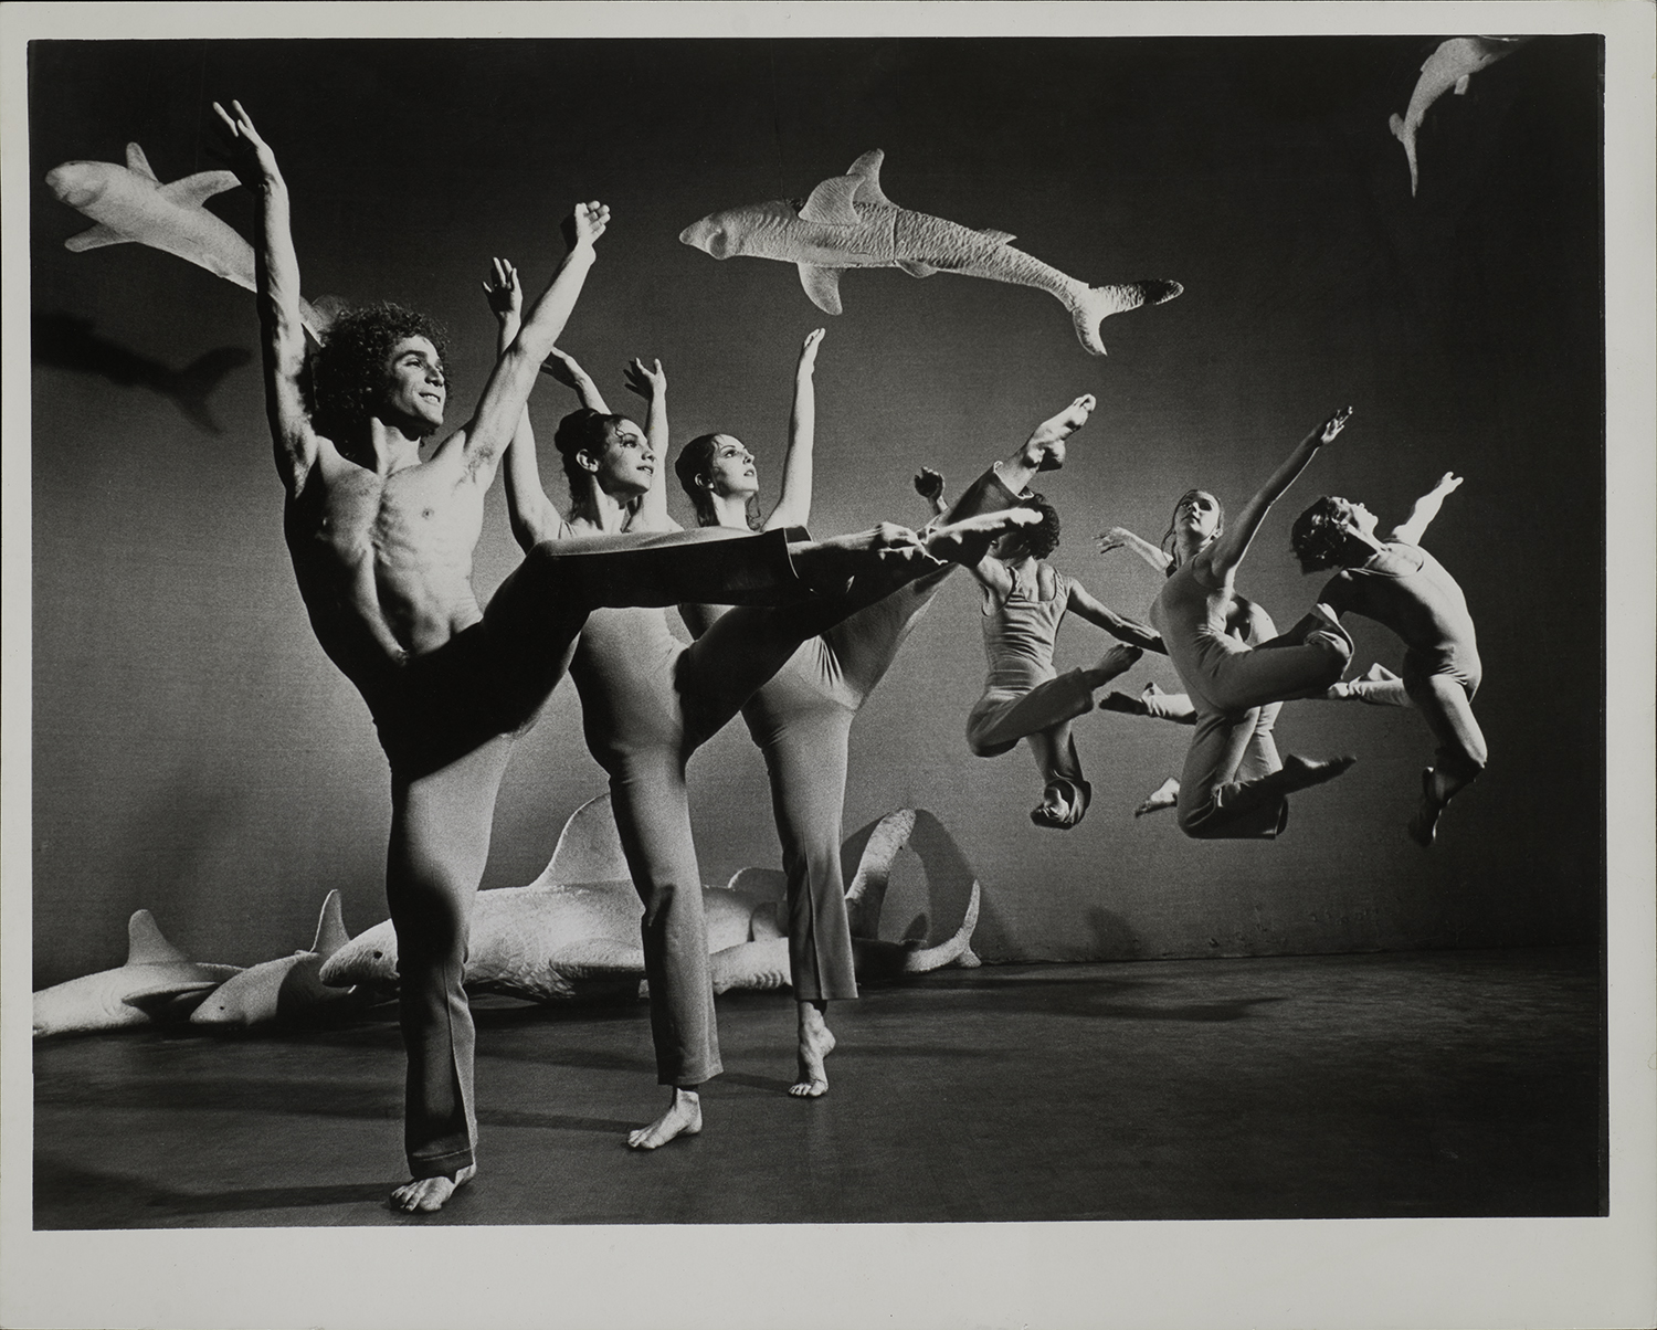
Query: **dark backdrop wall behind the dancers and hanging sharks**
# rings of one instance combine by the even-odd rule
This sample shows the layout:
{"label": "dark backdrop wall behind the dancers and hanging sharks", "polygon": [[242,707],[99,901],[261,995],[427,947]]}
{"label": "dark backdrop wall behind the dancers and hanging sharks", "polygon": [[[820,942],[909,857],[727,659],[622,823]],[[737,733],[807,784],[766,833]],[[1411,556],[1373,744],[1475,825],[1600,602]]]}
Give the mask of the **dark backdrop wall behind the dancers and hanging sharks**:
{"label": "dark backdrop wall behind the dancers and hanging sharks", "polygon": [[[1243,570],[1241,588],[1289,623],[1319,585],[1287,555],[1306,502],[1345,494],[1397,520],[1442,472],[1466,477],[1427,543],[1480,624],[1491,767],[1432,853],[1403,835],[1425,729],[1355,706],[1284,714],[1284,749],[1360,762],[1299,797],[1278,843],[1135,822],[1188,732],[1117,716],[1077,722],[1087,820],[1032,828],[1029,759],[978,760],[963,742],[983,649],[978,595],[958,575],[855,729],[847,830],[933,810],[983,881],[986,957],[1594,937],[1601,46],[1538,38],[1445,98],[1412,199],[1387,118],[1440,40],[36,43],[35,985],[118,964],[139,906],[199,959],[242,964],[308,944],[331,888],[353,929],[384,916],[384,764],[293,588],[257,361],[210,396],[212,422],[152,388],[217,348],[257,349],[252,296],[134,245],[66,252],[86,222],[43,184],[68,159],[121,161],[128,141],[162,181],[215,167],[210,101],[230,96],[288,177],[307,295],[394,298],[449,325],[452,424],[492,356],[489,257],[539,288],[558,219],[603,199],[615,222],[565,345],[615,398],[628,356],[659,356],[679,441],[736,432],[775,482],[795,349],[828,326],[820,532],[918,522],[920,465],[964,484],[1095,393],[1070,465],[1044,485],[1065,517],[1054,560],[1142,614],[1158,578],[1095,555],[1092,533],[1120,523],[1155,540],[1198,484],[1239,505],[1350,402],[1345,436]],[[1186,292],[1109,320],[1110,356],[1092,359],[1034,290],[852,272],[845,313],[827,318],[790,267],[678,243],[706,212],[804,195],[872,147],[905,207],[1014,232],[1087,282],[1171,277]],[[250,234],[244,192],[209,207]],[[543,437],[567,407],[545,383]],[[555,457],[543,469],[562,492]],[[479,590],[515,560],[497,487]],[[1360,667],[1399,666],[1385,631],[1359,621],[1354,634]],[[1059,664],[1104,644],[1067,623]],[[1178,687],[1165,661],[1125,682],[1147,679]],[[775,865],[764,770],[739,727],[693,780],[704,879]],[[514,759],[484,886],[530,881],[601,787],[567,686]],[[920,928],[928,909],[943,913],[911,863],[886,928]],[[933,916],[935,934],[954,924]]]}

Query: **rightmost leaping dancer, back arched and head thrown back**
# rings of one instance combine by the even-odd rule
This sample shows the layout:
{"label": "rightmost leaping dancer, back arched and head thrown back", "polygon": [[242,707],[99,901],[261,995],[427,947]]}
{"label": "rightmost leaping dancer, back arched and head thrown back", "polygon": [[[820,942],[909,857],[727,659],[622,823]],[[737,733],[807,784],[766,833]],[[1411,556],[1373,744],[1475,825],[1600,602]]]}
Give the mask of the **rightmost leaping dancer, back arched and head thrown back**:
{"label": "rightmost leaping dancer, back arched and head thrown back", "polygon": [[1422,772],[1422,802],[1410,838],[1432,845],[1438,815],[1485,770],[1485,735],[1473,719],[1481,667],[1473,618],[1457,580],[1420,547],[1445,495],[1461,485],[1445,472],[1415,500],[1387,542],[1375,538],[1375,513],[1345,499],[1319,499],[1294,522],[1291,547],[1302,573],[1341,568],[1319,593],[1336,614],[1362,614],[1403,639],[1403,691],[1438,740],[1438,760]]}

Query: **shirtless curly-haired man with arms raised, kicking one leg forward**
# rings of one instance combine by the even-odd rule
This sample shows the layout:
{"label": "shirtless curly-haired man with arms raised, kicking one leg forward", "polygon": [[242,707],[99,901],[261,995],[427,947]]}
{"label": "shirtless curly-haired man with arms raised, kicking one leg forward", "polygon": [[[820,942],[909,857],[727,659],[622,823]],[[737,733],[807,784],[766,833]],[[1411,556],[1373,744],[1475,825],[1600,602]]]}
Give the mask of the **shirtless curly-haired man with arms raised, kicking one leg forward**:
{"label": "shirtless curly-haired man with arms raised, kicking one leg forward", "polygon": [[341,315],[307,366],[287,184],[247,113],[232,108],[214,104],[237,176],[258,200],[265,409],[293,573],[323,651],[363,694],[391,764],[386,901],[398,932],[413,1176],[391,1204],[436,1211],[477,1171],[462,981],[495,793],[512,739],[563,677],[588,611],[693,596],[809,600],[809,583],[843,583],[868,557],[848,565],[843,550],[698,540],[706,533],[535,548],[481,610],[471,571],[484,494],[575,306],[608,209],[575,209],[570,252],[490,371],[472,419],[421,460],[447,398],[434,328],[396,306]]}

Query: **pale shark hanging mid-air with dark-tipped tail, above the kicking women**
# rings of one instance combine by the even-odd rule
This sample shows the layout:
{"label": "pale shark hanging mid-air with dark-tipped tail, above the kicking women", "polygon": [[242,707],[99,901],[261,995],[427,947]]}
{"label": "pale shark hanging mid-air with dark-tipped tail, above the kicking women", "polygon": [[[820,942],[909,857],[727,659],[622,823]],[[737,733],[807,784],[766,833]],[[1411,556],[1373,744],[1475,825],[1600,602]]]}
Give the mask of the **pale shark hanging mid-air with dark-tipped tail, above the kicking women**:
{"label": "pale shark hanging mid-air with dark-tipped tail, above the kicking women", "polygon": [[693,222],[679,240],[714,258],[751,255],[797,263],[800,285],[825,313],[840,313],[840,273],[847,268],[903,268],[910,277],[953,272],[1036,287],[1059,300],[1075,335],[1092,354],[1105,354],[1099,325],[1110,315],[1162,305],[1185,288],[1148,280],[1089,287],[1012,248],[1004,230],[973,230],[893,204],[880,189],[885,152],[865,152],[845,176],[824,181],[804,202],[774,199]]}

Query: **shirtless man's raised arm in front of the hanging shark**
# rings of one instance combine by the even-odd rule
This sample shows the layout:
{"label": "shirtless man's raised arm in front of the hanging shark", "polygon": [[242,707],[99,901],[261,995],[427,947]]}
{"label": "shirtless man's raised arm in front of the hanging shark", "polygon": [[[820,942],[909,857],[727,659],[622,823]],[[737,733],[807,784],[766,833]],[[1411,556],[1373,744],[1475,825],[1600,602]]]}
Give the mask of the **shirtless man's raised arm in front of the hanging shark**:
{"label": "shirtless man's raised arm in front of the hanging shark", "polygon": [[277,472],[288,495],[297,495],[316,462],[318,439],[300,388],[305,326],[300,323],[300,260],[293,252],[288,186],[277,167],[277,154],[254,129],[242,103],[232,101],[230,106],[234,116],[217,101],[212,109],[230,134],[237,179],[258,204],[254,285],[265,363],[265,417],[277,446]]}

